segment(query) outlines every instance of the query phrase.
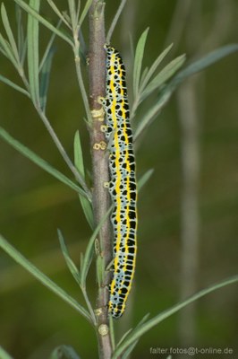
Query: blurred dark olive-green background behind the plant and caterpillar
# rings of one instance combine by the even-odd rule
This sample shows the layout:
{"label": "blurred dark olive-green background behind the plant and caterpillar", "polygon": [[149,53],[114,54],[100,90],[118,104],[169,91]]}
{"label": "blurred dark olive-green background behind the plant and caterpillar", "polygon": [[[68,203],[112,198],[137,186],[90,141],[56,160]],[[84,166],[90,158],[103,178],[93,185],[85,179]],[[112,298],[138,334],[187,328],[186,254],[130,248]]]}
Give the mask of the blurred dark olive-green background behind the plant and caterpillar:
{"label": "blurred dark olive-green background behind the plant and caterpillar", "polygon": [[[14,27],[13,2],[4,3]],[[149,66],[171,42],[174,49],[166,61],[186,53],[188,62],[237,42],[237,0],[149,0],[146,4],[128,0],[127,3],[112,43],[124,57],[131,94],[129,33],[135,46],[141,32],[150,28],[143,66]],[[57,4],[61,10],[67,8],[66,1]],[[106,29],[118,4],[118,0],[106,1]],[[43,2],[42,13],[55,21],[47,2]],[[86,41],[87,25],[85,22]],[[2,24],[0,29],[2,32]],[[40,45],[44,48],[50,34],[43,27],[40,33]],[[184,295],[237,274],[237,60],[237,54],[225,57],[193,76],[175,92],[142,138],[137,152],[138,176],[150,168],[155,171],[140,193],[138,261],[128,305],[132,312],[128,308],[124,318],[116,323],[118,337],[146,313],[153,316]],[[83,70],[87,80],[86,66]],[[0,73],[20,83],[13,66],[4,57],[0,57]],[[150,101],[141,106],[134,127],[149,109]],[[0,83],[0,109],[1,127],[71,176],[27,98]],[[85,113],[73,55],[60,39],[55,40],[47,115],[71,156],[74,133],[80,130],[85,163],[90,170],[89,135],[83,120]],[[194,155],[194,162],[186,167],[188,154],[191,159]],[[0,166],[0,232],[82,302],[56,235],[57,228],[64,232],[72,258],[79,265],[80,252],[87,245],[90,230],[77,195],[2,140]],[[96,295],[94,273],[92,267],[89,275],[92,301]],[[82,358],[98,356],[95,333],[88,323],[36,283],[2,250],[0,318],[0,344],[15,359],[47,358],[61,344],[73,346]],[[236,357],[237,332],[237,285],[232,285],[209,294],[187,311],[150,330],[136,346],[132,358],[166,357],[151,355],[150,347],[187,346],[229,347],[234,350],[230,357]]]}

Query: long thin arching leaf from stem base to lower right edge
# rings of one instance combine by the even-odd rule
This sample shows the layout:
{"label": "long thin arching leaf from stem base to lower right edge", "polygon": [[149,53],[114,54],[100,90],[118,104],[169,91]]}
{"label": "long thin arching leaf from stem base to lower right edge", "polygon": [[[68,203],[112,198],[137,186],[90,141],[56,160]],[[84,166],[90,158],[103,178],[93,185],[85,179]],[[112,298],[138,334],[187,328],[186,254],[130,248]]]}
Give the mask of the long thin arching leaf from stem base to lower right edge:
{"label": "long thin arching leaf from stem base to lower right edge", "polygon": [[140,339],[140,337],[143,334],[147,333],[149,329],[154,328],[161,321],[166,320],[166,318],[170,317],[175,312],[180,311],[182,308],[186,307],[191,302],[195,302],[196,300],[203,297],[204,295],[214,292],[217,289],[224,287],[225,285],[232,285],[237,282],[238,282],[238,276],[232,276],[216,285],[211,285],[208,288],[201,290],[199,293],[195,293],[191,295],[191,297],[188,298],[187,300],[183,302],[179,302],[178,304],[175,304],[173,307],[169,308],[168,310],[159,313],[156,317],[152,318],[151,320],[148,320],[139,328],[132,329],[131,333],[129,333],[129,335],[123,340],[123,342],[115,348],[115,353],[112,356],[112,359],[118,358],[124,352],[124,350],[126,350],[126,348],[131,346],[135,340]]}

